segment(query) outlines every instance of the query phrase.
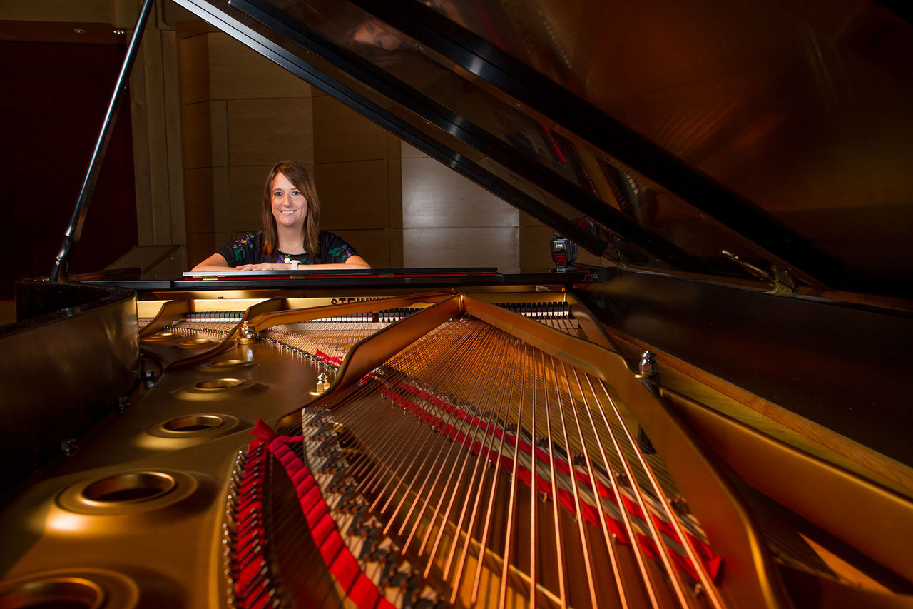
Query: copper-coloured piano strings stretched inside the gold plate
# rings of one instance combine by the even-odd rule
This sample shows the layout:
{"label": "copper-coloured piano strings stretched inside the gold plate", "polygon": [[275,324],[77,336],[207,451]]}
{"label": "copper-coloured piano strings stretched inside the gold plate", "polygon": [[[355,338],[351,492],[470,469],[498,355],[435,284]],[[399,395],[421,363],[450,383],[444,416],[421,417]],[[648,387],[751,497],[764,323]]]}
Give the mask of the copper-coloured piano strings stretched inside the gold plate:
{"label": "copper-coloured piano strings stretched inside the gold plate", "polygon": [[[335,368],[383,326],[376,318],[264,335]],[[694,518],[671,508],[674,487],[639,450],[613,393],[463,316],[281,433],[304,436],[302,457],[340,531],[371,540],[353,553],[382,589],[415,585],[420,572],[411,590],[429,603],[722,606],[719,561]],[[301,526],[294,508],[278,506],[277,537]],[[372,555],[399,564],[372,567]],[[299,582],[301,569],[282,572]]]}

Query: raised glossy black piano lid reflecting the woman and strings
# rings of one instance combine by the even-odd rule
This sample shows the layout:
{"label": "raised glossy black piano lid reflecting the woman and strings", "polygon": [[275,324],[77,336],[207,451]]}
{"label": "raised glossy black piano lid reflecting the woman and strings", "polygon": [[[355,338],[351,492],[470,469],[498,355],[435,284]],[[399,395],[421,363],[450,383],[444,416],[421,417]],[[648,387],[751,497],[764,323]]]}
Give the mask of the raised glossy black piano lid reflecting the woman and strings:
{"label": "raised glossy black piano lid reflecting the woman and strings", "polygon": [[883,6],[177,3],[609,262],[909,294],[913,28]]}

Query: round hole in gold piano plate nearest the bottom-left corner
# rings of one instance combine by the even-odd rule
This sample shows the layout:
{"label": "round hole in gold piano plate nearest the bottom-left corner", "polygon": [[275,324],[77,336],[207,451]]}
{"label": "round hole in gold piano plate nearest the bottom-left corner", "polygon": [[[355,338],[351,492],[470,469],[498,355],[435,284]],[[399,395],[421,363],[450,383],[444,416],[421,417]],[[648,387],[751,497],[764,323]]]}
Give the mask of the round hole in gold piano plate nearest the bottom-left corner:
{"label": "round hole in gold piano plate nearest the bottom-left corner", "polygon": [[0,592],[0,609],[95,609],[105,600],[98,584],[79,577],[22,582]]}

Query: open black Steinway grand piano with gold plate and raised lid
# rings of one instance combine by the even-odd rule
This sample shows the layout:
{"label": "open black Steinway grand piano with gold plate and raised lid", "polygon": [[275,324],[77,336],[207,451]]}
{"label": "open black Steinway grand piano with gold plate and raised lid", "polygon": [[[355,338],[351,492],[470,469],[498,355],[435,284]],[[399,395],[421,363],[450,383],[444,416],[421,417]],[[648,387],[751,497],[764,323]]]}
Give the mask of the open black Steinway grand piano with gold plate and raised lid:
{"label": "open black Steinway grand piano with gold plate and raised lid", "polygon": [[176,2],[555,268],[19,283],[0,607],[913,606],[902,9]]}

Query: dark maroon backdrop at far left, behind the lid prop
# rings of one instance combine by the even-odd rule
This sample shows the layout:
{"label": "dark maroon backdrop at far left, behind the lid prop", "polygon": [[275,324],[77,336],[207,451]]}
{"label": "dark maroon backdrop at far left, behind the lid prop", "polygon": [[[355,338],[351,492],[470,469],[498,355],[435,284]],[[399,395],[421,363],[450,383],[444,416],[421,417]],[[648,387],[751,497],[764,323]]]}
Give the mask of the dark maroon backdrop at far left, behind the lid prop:
{"label": "dark maroon backdrop at far left, behind the lid prop", "polygon": [[[0,41],[0,300],[47,277],[89,167],[126,44]],[[111,134],[70,272],[137,244],[130,98]]]}

